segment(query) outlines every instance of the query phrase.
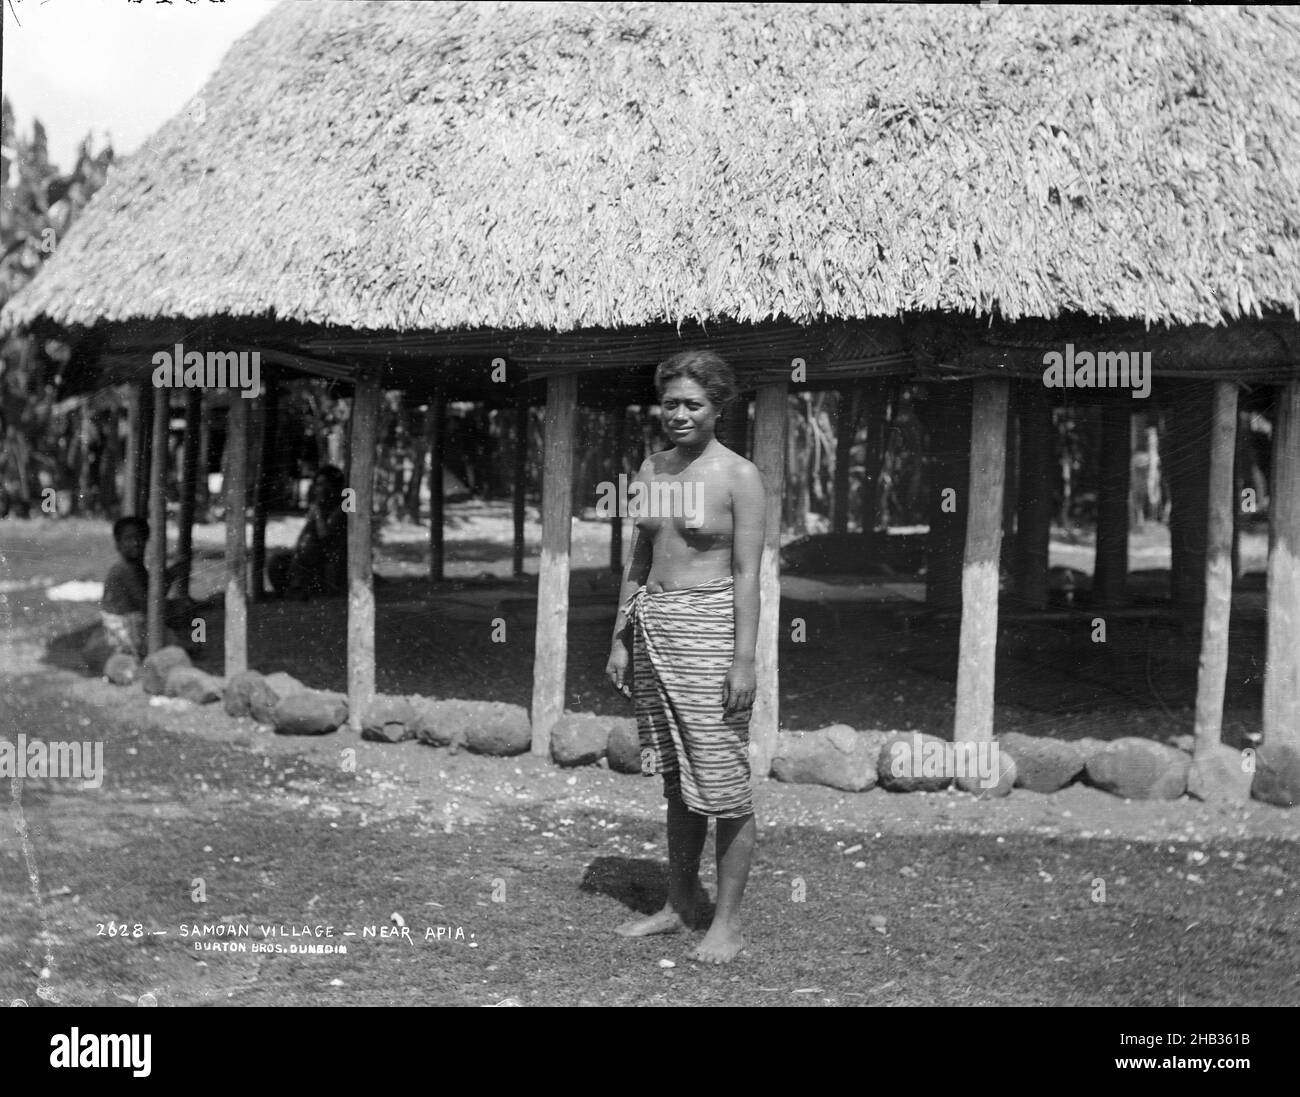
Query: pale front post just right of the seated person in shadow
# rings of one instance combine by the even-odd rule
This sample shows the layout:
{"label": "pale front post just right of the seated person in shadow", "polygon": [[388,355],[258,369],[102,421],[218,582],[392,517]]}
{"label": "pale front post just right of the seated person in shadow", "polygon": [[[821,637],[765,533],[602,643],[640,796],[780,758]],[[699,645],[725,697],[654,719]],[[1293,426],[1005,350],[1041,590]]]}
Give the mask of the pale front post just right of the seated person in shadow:
{"label": "pale front post just right of the seated person in shadow", "polygon": [[350,422],[355,508],[347,516],[347,721],[361,730],[374,701],[374,586],[370,523],[374,513],[374,435],[380,420],[378,378],[356,378]]}

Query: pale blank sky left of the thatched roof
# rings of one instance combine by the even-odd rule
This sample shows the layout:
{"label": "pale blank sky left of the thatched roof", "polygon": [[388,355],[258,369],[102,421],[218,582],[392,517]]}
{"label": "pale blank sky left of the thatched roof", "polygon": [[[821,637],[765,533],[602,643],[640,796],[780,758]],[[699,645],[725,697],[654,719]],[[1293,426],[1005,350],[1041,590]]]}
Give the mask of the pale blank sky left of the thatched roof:
{"label": "pale blank sky left of the thatched roof", "polygon": [[[302,3],[302,0],[298,0]],[[212,75],[276,0],[0,0],[4,94],[18,129],[39,118],[60,170],[107,136],[134,152]]]}

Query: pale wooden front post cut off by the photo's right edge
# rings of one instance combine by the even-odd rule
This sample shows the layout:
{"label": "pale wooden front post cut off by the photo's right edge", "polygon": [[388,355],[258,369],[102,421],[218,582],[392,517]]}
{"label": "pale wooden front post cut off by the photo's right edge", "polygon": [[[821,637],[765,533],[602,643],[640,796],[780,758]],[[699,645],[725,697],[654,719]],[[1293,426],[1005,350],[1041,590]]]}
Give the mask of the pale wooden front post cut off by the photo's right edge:
{"label": "pale wooden front post cut off by the photo's right edge", "polygon": [[1300,381],[1278,391],[1269,485],[1264,742],[1300,750]]}

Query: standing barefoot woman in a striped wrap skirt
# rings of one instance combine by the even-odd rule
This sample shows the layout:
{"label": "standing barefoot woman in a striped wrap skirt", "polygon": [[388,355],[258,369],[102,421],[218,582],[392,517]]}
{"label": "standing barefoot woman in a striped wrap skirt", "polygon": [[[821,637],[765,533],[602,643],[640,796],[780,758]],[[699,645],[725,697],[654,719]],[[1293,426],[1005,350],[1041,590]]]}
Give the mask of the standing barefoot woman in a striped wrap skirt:
{"label": "standing barefoot woman in a striped wrap skirt", "polygon": [[642,771],[668,801],[668,901],[618,928],[625,937],[693,925],[699,857],[718,820],[718,906],[693,959],[727,963],[744,946],[740,901],[754,855],[749,717],[754,704],[763,481],[715,437],[736,396],[731,368],[684,351],[655,370],[673,448],[649,458],[606,675],[627,691],[629,663]]}

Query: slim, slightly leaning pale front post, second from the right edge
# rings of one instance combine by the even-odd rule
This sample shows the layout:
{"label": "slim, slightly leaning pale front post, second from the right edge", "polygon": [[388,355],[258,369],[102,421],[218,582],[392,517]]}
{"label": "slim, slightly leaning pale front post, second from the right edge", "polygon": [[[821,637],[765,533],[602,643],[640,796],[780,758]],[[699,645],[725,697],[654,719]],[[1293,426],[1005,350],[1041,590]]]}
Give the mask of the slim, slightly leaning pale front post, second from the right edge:
{"label": "slim, slightly leaning pale front post, second from the right edge", "polygon": [[1232,516],[1236,493],[1236,383],[1214,382],[1214,429],[1210,434],[1209,525],[1205,548],[1205,613],[1201,660],[1196,675],[1196,754],[1213,750],[1223,729],[1227,636],[1232,612]]}

